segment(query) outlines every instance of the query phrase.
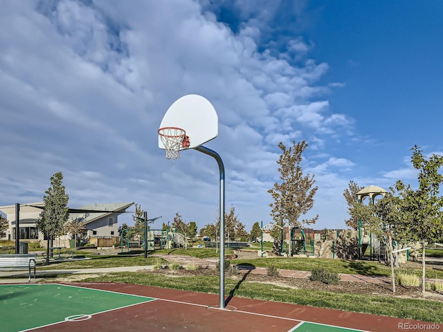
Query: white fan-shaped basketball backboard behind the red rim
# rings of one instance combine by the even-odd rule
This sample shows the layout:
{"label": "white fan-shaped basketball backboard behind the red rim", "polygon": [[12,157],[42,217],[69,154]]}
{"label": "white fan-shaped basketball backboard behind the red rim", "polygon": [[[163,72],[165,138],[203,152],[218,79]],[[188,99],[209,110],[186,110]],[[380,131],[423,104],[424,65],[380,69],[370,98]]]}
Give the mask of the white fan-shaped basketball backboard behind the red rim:
{"label": "white fan-shaped basketball backboard behind the red rim", "polygon": [[[166,111],[160,128],[178,127],[189,137],[189,149],[199,147],[217,137],[219,120],[213,105],[201,95],[184,95]],[[159,148],[165,149],[159,137]]]}

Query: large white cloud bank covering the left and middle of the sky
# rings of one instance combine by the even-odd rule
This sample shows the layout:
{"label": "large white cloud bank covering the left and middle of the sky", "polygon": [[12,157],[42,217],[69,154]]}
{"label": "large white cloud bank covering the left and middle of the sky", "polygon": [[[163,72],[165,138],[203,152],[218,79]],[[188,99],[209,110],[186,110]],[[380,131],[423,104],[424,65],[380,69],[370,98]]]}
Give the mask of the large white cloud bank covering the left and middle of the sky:
{"label": "large white cloud bank covering the left and middle of the sky", "polygon": [[[219,115],[219,137],[207,145],[224,159],[227,206],[235,205],[247,228],[270,220],[278,142],[306,139],[319,155],[339,128],[352,136],[352,119],[329,109],[321,82],[329,66],[309,59],[313,43],[284,39],[284,54],[260,44],[278,10],[261,4],[235,3],[243,20],[234,33],[191,0],[61,0],[38,8],[7,1],[0,112],[9,143],[0,146],[0,205],[41,200],[51,175],[62,171],[73,206],[135,201],[163,215],[161,222],[175,212],[199,226],[213,222],[214,160],[182,151],[169,163],[156,147],[165,110],[199,93]],[[327,156],[309,166],[322,185],[318,201],[329,206],[347,183],[341,172],[354,165]]]}

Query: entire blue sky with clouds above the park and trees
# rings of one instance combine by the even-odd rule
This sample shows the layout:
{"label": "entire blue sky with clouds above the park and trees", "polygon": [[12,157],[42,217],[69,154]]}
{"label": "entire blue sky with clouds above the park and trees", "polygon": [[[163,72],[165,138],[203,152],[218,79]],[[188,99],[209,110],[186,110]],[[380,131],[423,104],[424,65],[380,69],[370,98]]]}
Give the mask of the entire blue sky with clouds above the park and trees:
{"label": "entire blue sky with clouds above the park and trees", "polygon": [[[134,201],[148,216],[215,222],[218,168],[165,160],[156,130],[197,93],[219,116],[205,144],[226,208],[272,221],[278,143],[306,140],[318,192],[306,217],[342,228],[349,181],[415,185],[410,148],[443,154],[442,1],[1,1],[0,205]],[[120,221],[129,221],[127,214]]]}

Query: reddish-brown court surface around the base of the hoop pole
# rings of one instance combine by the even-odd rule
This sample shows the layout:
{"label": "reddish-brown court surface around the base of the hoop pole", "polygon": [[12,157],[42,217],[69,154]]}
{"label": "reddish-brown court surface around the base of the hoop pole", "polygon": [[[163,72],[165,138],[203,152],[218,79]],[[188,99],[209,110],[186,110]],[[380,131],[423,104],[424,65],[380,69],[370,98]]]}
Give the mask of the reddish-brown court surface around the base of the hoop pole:
{"label": "reddish-brown court surface around the base of the hoop pole", "polygon": [[[225,310],[220,310],[217,308],[218,295],[118,283],[75,283],[72,285],[153,297],[155,300],[91,315],[87,320],[71,320],[28,331],[392,332],[403,331],[404,328],[400,326],[423,328],[429,324],[237,297],[230,299]],[[78,310],[78,308],[75,309]],[[316,324],[309,324],[309,322]],[[434,324],[434,330],[443,331],[443,324]],[[415,329],[415,331],[431,330]]]}

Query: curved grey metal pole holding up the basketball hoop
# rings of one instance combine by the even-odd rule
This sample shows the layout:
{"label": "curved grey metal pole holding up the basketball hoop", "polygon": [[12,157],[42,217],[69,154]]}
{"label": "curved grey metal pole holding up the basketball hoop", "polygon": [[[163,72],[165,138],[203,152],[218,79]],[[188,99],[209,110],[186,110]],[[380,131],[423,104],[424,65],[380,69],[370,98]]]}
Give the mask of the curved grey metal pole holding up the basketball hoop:
{"label": "curved grey metal pole holding up the basketball hoop", "polygon": [[197,151],[203,152],[208,156],[212,156],[217,160],[217,164],[219,165],[220,171],[220,211],[219,211],[219,219],[220,219],[220,258],[219,258],[219,269],[220,269],[220,297],[219,297],[219,307],[224,308],[224,165],[223,160],[217,152],[208,149],[200,145],[195,148]]}

